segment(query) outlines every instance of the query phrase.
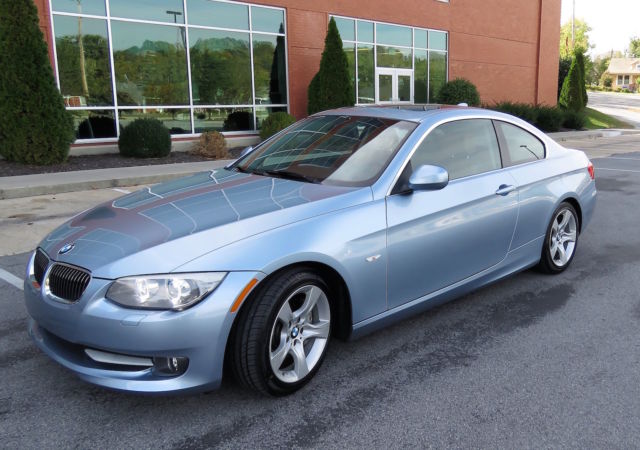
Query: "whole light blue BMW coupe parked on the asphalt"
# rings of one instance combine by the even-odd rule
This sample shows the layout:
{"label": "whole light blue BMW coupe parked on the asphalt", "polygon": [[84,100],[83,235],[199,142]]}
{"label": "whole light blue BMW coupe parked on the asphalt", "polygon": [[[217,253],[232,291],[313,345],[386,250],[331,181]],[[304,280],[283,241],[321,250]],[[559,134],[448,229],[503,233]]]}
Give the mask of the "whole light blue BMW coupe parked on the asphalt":
{"label": "whole light blue BMW coupe parked on the asphalt", "polygon": [[113,389],[212,389],[228,365],[284,395],[332,337],[532,266],[562,272],[595,200],[584,153],[512,116],[328,111],[52,232],[27,267],[29,332]]}

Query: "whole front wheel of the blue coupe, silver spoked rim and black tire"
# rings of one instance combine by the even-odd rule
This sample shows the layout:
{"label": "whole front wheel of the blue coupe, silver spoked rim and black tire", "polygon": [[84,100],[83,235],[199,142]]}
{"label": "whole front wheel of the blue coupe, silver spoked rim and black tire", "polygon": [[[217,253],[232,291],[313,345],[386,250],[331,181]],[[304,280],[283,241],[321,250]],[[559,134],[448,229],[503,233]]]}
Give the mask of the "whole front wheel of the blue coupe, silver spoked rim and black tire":
{"label": "whole front wheel of the blue coupe, silver spoked rim and black tire", "polygon": [[329,288],[317,274],[287,271],[243,309],[233,341],[233,368],[246,386],[287,395],[311,380],[331,334]]}

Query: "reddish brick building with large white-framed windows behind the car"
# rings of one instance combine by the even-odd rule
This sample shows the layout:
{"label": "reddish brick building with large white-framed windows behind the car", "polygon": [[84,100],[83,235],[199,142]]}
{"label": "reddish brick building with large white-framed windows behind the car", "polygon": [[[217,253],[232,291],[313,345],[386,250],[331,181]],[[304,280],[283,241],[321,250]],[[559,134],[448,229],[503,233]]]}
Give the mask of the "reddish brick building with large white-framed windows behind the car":
{"label": "reddish brick building with large white-framed windows behind the car", "polygon": [[457,77],[486,103],[556,102],[560,0],[35,1],[78,144],[137,117],[175,140],[303,117],[332,16],[358,104],[433,101]]}

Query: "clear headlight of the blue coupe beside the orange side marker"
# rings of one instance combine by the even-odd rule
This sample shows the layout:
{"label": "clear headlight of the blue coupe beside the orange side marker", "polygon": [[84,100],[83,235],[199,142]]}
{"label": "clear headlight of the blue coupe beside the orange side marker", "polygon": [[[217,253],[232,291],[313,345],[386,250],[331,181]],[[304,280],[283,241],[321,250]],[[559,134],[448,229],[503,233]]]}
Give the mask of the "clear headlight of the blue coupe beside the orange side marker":
{"label": "clear headlight of the blue coupe beside the orange side marker", "polygon": [[109,287],[106,297],[131,308],[181,311],[213,292],[225,275],[205,272],[120,278]]}

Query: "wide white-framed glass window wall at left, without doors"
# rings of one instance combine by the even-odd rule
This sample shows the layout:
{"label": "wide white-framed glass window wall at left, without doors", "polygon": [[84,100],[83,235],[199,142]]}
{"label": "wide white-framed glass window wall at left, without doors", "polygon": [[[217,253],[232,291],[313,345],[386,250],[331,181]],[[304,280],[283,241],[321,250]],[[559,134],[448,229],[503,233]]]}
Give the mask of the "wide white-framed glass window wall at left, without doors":
{"label": "wide white-framed glass window wall at left, without doors", "polygon": [[173,135],[252,132],[268,113],[288,110],[281,8],[215,0],[51,7],[59,87],[79,140],[116,138],[139,117]]}

